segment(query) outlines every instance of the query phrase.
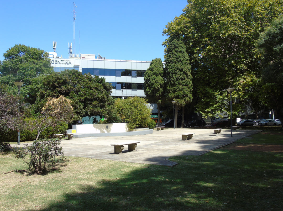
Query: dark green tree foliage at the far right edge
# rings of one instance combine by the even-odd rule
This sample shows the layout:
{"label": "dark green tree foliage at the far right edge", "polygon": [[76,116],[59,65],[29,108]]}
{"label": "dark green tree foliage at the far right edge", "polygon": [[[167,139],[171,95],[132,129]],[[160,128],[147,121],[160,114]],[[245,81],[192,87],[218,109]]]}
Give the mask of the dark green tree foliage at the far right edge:
{"label": "dark green tree foliage at the far right edge", "polygon": [[260,34],[258,49],[262,55],[261,100],[283,117],[283,16],[275,19]]}

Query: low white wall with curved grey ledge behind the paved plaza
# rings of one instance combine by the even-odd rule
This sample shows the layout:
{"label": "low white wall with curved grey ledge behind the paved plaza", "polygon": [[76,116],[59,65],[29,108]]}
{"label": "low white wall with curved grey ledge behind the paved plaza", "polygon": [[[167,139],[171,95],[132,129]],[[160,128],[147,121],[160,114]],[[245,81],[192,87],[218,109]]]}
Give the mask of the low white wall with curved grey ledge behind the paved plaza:
{"label": "low white wall with curved grey ledge behind the paved plaza", "polygon": [[127,123],[112,124],[76,124],[73,125],[76,130],[74,138],[95,137],[95,136],[125,136],[125,135],[145,135],[152,134],[153,130],[149,128],[137,128],[128,131]]}

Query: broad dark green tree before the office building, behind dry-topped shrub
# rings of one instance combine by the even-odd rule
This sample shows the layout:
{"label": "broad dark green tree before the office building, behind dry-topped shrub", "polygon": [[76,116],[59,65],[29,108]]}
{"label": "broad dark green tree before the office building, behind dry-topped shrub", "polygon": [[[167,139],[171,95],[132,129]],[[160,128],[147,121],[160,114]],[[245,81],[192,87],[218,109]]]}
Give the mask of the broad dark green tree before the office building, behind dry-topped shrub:
{"label": "broad dark green tree before the office building, behind dry-topped shrub", "polygon": [[112,85],[105,82],[104,78],[93,77],[90,74],[82,75],[78,70],[65,70],[44,77],[37,89],[37,112],[41,111],[48,98],[58,98],[62,95],[72,100],[75,120],[96,115],[108,119],[109,114],[112,114]]}

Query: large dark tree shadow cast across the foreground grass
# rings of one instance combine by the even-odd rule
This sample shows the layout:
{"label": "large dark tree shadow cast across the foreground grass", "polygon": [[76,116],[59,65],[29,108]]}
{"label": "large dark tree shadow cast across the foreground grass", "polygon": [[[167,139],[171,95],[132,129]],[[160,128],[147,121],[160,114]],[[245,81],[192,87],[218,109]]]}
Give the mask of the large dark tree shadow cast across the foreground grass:
{"label": "large dark tree shadow cast across the foreground grass", "polygon": [[[278,210],[282,154],[215,150],[142,165],[97,186],[81,184],[42,210]],[[272,161],[272,162],[271,162]]]}

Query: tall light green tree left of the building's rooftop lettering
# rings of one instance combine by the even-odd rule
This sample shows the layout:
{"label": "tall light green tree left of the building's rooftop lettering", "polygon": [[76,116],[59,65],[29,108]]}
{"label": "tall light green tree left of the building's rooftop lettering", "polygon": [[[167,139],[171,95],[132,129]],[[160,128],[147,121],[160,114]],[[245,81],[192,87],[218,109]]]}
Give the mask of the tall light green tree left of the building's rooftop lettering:
{"label": "tall light green tree left of the building's rooftop lettering", "polygon": [[3,56],[5,59],[0,66],[0,82],[13,86],[14,81],[23,81],[21,94],[24,96],[29,96],[28,85],[35,77],[54,72],[48,53],[39,48],[16,44]]}

